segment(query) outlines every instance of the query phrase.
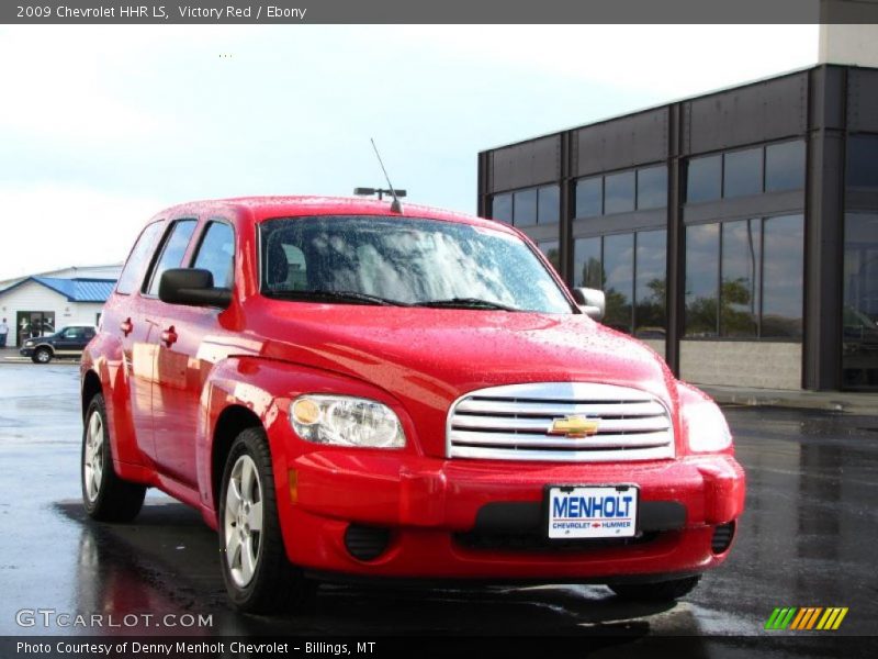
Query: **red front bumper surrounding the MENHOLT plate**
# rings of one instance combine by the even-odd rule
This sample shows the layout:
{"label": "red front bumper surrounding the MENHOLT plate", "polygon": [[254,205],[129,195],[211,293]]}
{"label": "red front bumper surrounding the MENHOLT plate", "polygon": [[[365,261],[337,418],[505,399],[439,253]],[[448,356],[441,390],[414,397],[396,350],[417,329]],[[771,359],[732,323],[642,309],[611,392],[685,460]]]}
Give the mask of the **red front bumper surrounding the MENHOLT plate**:
{"label": "red front bumper surrounding the MENHOLT plate", "polygon": [[[318,450],[278,477],[292,562],[406,579],[599,582],[697,573],[724,560],[727,550],[711,548],[713,532],[741,515],[745,489],[743,470],[727,455],[554,465]],[[544,487],[562,483],[637,484],[638,537],[545,539]],[[372,560],[354,558],[346,545],[352,525],[387,529],[386,548]]]}

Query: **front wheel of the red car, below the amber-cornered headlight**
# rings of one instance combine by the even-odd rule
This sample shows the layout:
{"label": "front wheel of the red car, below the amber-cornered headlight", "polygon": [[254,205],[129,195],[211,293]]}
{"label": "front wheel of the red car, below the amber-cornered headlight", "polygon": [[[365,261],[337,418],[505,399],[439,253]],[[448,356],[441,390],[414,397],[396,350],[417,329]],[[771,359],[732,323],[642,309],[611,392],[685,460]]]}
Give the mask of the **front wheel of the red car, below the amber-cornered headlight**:
{"label": "front wheel of the red car, below the amber-cornered headlight", "polygon": [[311,612],[316,584],[286,559],[261,428],[248,428],[233,443],[218,509],[219,566],[233,605],[257,614]]}

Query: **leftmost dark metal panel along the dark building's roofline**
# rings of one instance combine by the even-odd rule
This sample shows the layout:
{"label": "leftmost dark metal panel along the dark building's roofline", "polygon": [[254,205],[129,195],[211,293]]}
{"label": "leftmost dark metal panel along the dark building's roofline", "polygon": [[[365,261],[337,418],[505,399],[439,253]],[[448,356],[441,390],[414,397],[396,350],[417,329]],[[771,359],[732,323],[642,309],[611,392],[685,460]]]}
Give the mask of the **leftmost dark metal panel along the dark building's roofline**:
{"label": "leftmost dark metal panel along the dark building's roofline", "polygon": [[561,135],[488,152],[488,192],[552,183],[561,178]]}

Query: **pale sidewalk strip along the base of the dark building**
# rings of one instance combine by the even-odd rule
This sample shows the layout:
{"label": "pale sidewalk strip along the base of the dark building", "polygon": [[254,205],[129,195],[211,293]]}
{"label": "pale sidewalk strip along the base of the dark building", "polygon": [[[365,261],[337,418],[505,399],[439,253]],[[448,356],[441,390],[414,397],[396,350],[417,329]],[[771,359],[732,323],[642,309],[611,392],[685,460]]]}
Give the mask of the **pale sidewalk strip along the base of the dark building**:
{"label": "pale sidewalk strip along the base of the dark building", "polygon": [[720,404],[822,410],[878,416],[878,392],[787,391],[741,387],[697,386]]}

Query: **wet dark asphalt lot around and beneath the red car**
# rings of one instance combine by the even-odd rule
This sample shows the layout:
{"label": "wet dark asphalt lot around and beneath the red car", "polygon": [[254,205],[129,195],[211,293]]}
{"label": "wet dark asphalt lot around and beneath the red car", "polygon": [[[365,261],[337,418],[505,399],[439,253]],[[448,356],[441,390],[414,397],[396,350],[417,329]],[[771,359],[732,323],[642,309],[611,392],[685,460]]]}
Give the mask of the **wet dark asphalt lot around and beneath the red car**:
{"label": "wet dark asphalt lot around and beneath the red car", "polygon": [[[0,635],[619,632],[755,637],[740,654],[751,656],[765,649],[758,637],[772,634],[763,626],[776,606],[847,606],[836,636],[878,632],[878,416],[728,407],[747,510],[729,560],[673,605],[626,603],[599,585],[331,585],[319,591],[315,614],[270,618],[227,606],[215,535],[185,506],[150,492],[136,524],[86,518],[77,391],[74,365],[0,364]],[[21,611],[37,608],[155,617],[103,629],[45,626],[42,614],[31,616],[33,626],[19,624]],[[185,614],[211,621],[156,628],[167,614],[180,625],[191,622]],[[799,645],[773,652],[807,656],[812,647],[801,636],[790,643]]]}

